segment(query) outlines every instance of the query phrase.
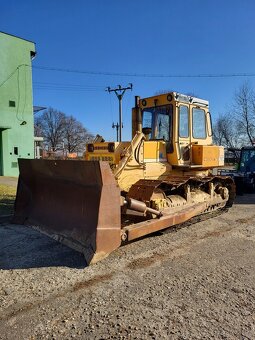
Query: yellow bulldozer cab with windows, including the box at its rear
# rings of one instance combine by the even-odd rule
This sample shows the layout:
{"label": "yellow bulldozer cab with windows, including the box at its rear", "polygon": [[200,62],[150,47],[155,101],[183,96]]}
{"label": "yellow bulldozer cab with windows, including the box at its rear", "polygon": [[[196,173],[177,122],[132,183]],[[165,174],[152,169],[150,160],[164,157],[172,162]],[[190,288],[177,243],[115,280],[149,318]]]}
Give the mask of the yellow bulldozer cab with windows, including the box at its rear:
{"label": "yellow bulldozer cab with windows, including the box at its rear", "polygon": [[136,97],[133,136],[143,132],[146,142],[164,144],[167,161],[177,167],[223,165],[224,150],[212,145],[209,103],[177,92],[146,99]]}

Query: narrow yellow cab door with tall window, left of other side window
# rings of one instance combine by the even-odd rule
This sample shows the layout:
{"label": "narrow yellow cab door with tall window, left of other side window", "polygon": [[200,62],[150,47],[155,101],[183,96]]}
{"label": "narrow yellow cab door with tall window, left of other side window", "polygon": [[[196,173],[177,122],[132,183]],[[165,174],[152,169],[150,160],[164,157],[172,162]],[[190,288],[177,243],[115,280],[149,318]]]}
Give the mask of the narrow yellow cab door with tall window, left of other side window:
{"label": "narrow yellow cab door with tall window, left of other side window", "polygon": [[189,165],[190,155],[190,114],[189,105],[180,104],[178,106],[178,160],[179,164]]}

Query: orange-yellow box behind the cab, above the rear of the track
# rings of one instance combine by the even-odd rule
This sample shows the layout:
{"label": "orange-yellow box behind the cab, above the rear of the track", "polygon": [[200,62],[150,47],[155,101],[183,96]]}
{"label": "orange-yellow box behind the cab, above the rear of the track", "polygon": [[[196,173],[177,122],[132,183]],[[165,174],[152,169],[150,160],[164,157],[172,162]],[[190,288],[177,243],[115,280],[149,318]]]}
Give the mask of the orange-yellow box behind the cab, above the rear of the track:
{"label": "orange-yellow box behind the cab, above the rear of the track", "polygon": [[203,167],[224,165],[224,147],[216,145],[192,145],[192,164]]}

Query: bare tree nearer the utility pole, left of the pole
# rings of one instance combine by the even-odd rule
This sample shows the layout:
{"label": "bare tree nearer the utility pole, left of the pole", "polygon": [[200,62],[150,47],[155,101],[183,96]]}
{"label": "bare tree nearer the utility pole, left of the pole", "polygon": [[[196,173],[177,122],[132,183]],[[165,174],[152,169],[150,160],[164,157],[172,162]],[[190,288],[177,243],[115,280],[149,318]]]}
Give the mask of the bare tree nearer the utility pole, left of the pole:
{"label": "bare tree nearer the utility pole, left of the pole", "polygon": [[68,152],[83,152],[85,144],[93,136],[73,116],[67,116],[63,127],[63,140]]}

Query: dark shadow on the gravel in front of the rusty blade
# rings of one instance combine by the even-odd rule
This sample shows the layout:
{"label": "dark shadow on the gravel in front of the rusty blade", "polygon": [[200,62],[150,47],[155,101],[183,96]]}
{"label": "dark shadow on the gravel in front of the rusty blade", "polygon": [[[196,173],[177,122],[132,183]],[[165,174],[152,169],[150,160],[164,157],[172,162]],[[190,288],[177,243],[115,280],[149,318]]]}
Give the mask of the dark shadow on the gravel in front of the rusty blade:
{"label": "dark shadow on the gravel in front of the rusty blade", "polygon": [[22,225],[0,225],[0,269],[85,268],[84,256]]}

